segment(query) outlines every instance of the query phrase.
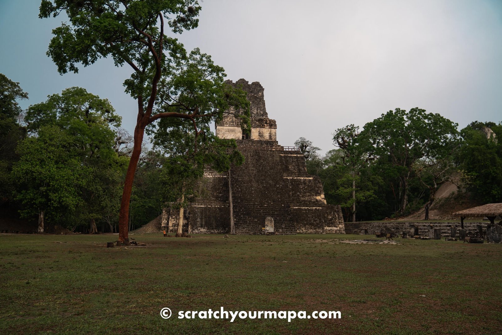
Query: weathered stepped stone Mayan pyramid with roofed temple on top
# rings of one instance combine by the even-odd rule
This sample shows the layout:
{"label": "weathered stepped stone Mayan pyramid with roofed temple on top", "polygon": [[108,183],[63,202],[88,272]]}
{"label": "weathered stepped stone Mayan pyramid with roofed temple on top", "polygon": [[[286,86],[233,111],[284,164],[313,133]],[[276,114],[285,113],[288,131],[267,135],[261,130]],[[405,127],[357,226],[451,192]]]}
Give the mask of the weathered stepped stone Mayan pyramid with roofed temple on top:
{"label": "weathered stepped stone Mayan pyramid with roofed temple on top", "polygon": [[[307,174],[302,153],[277,143],[276,121],[268,117],[262,85],[227,82],[247,92],[251,133],[246,135],[225,114],[216,135],[236,140],[245,162],[229,173],[205,171],[201,184],[206,195],[185,209],[183,232],[229,233],[231,205],[236,234],[344,233],[340,207],[326,204],[321,181]],[[176,233],[178,210],[166,208],[161,224]]]}

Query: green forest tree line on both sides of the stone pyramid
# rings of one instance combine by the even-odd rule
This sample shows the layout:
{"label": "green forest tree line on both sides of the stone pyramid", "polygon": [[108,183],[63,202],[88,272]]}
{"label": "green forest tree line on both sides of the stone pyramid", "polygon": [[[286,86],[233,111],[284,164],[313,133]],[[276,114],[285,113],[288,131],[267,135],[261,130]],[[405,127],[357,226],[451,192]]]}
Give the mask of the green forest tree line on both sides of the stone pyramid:
{"label": "green forest tree line on both sides of the stone pyramid", "polygon": [[[44,220],[73,231],[116,232],[133,138],[106,99],[71,87],[26,110],[19,83],[0,74],[0,189],[3,212]],[[149,131],[131,196],[129,230],[162,212],[183,210],[202,190],[203,170],[242,164],[234,141],[202,125],[198,136],[181,119],[161,120]],[[300,138],[307,170],[320,177],[328,203],[344,218],[378,220],[409,214],[454,181],[481,203],[502,201],[502,124],[458,125],[419,108],[390,110],[362,129],[336,129],[326,155]],[[455,178],[454,178],[455,177]]]}

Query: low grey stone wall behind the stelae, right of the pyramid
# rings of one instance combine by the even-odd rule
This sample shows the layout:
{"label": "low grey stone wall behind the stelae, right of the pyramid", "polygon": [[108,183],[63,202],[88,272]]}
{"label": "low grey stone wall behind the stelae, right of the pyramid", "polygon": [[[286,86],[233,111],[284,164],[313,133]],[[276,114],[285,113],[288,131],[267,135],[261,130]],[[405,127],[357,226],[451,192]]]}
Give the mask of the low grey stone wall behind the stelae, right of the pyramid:
{"label": "low grey stone wall behind the stelae, right of the pyramid", "polygon": [[[486,230],[486,225],[489,222],[464,222],[464,229],[467,232],[476,232],[477,226],[481,226],[483,231]],[[432,229],[431,226],[432,225]],[[418,228],[418,235],[429,236],[429,232],[433,229],[440,229],[442,237],[452,236],[452,226],[454,226],[456,237],[460,230],[459,222],[416,222],[416,221],[384,221],[384,222],[345,222],[345,234],[369,234],[373,235],[381,231],[393,231],[396,234],[403,234],[403,232],[410,235],[412,227]]]}

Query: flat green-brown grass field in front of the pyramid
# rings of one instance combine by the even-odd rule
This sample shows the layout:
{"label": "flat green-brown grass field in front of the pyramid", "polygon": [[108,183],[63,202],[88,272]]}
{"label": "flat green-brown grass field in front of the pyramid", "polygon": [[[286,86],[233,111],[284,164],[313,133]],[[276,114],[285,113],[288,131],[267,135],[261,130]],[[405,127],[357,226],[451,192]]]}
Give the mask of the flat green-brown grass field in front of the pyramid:
{"label": "flat green-brown grass field in front of the pyramid", "polygon": [[[502,332],[502,244],[146,234],[107,249],[116,237],[0,235],[0,333]],[[220,306],[342,318],[177,318]]]}

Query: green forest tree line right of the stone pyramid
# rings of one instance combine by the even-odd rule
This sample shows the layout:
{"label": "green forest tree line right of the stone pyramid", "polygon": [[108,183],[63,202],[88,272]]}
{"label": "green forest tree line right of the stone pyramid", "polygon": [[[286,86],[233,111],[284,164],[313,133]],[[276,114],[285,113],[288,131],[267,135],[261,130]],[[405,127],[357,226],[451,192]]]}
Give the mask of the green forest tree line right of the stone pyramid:
{"label": "green forest tree line right of the stone pyramid", "polygon": [[473,121],[457,129],[439,114],[396,108],[362,129],[336,129],[334,149],[324,156],[305,138],[295,145],[346,221],[408,215],[430,206],[445,182],[475,203],[502,202],[502,123]]}

